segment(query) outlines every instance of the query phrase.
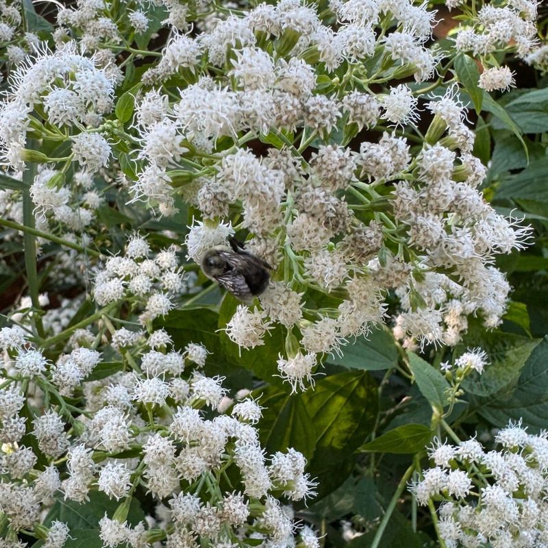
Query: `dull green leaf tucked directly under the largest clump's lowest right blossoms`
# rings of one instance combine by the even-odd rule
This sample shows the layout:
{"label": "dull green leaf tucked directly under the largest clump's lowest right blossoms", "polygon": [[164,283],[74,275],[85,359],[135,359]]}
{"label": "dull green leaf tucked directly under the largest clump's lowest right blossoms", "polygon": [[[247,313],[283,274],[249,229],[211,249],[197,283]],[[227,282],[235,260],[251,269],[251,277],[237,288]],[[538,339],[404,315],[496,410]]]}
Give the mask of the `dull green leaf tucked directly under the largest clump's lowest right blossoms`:
{"label": "dull green leaf tucked directly under the largest clump's lowest right blossoms", "polygon": [[351,369],[379,371],[397,366],[398,350],[394,337],[386,329],[375,328],[367,337],[360,337],[343,349],[342,358],[329,358],[330,363]]}

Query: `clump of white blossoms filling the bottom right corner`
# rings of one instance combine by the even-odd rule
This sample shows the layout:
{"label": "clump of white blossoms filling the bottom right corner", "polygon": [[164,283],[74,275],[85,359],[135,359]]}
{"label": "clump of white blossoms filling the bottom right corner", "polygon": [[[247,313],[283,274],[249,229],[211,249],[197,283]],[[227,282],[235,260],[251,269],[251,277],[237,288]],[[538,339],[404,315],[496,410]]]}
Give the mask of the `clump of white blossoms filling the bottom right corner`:
{"label": "clump of white blossoms filling the bottom right corner", "polygon": [[421,505],[434,501],[447,548],[536,548],[548,544],[545,484],[548,435],[510,423],[487,451],[474,438],[458,445],[435,440],[433,465],[410,490]]}

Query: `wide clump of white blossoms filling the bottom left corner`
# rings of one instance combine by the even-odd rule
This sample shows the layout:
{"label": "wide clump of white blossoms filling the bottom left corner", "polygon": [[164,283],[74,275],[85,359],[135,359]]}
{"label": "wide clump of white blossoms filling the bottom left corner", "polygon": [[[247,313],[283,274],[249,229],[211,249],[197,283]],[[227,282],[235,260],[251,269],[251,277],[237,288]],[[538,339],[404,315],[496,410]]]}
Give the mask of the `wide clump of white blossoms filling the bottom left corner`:
{"label": "wide clump of white blossoms filling the bottom left corner", "polygon": [[[128,251],[138,258],[149,250],[136,237]],[[167,546],[232,545],[247,538],[316,546],[315,534],[294,519],[290,506],[315,494],[306,459],[295,449],[266,458],[255,426],[262,408],[250,397],[226,414],[215,413],[226,390],[223,378],[201,372],[206,347],[190,343],[181,353],[163,329],[145,335],[104,321],[108,351],[121,361],[117,371],[98,379],[90,375],[103,362],[99,351],[73,346],[51,363],[21,329],[0,329],[9,373],[0,388],[0,504],[8,535],[34,530],[49,539],[48,546],[61,548],[69,528],[62,522],[40,525],[40,512],[53,496],[85,503],[98,489],[121,501],[99,522],[108,547],[159,540]],[[68,396],[81,407],[67,403]],[[34,407],[37,397],[45,412]],[[210,409],[207,418],[204,407]],[[36,445],[23,444],[27,421]],[[123,451],[130,447],[133,457],[127,458]],[[38,458],[45,468],[37,466]],[[227,474],[240,479],[225,485]],[[159,513],[169,508],[164,523],[127,525],[139,485]]]}

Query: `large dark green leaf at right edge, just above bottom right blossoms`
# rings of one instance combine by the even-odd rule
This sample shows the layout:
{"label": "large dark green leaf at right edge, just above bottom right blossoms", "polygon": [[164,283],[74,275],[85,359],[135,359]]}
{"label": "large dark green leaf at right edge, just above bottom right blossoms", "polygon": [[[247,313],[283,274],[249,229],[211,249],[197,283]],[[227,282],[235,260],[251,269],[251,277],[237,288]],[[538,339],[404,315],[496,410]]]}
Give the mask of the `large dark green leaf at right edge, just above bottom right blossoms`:
{"label": "large dark green leaf at right edge, just above bottom right blossoms", "polygon": [[488,398],[477,398],[473,408],[497,427],[508,421],[538,431],[546,428],[548,416],[548,336],[532,351],[519,379]]}

